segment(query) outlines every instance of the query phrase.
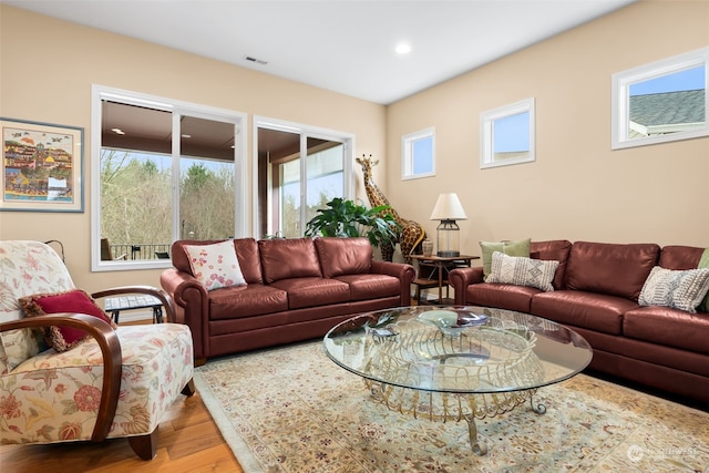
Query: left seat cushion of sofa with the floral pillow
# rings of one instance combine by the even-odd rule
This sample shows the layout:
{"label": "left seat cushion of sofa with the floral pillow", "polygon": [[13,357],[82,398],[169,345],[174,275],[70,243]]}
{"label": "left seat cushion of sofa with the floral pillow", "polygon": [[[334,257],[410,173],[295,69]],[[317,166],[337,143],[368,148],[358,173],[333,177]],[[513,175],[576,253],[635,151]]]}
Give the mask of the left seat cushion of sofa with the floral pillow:
{"label": "left seat cushion of sofa with the floral pillow", "polygon": [[270,286],[254,284],[209,292],[209,320],[240,319],[284,310],[288,310],[288,295]]}

